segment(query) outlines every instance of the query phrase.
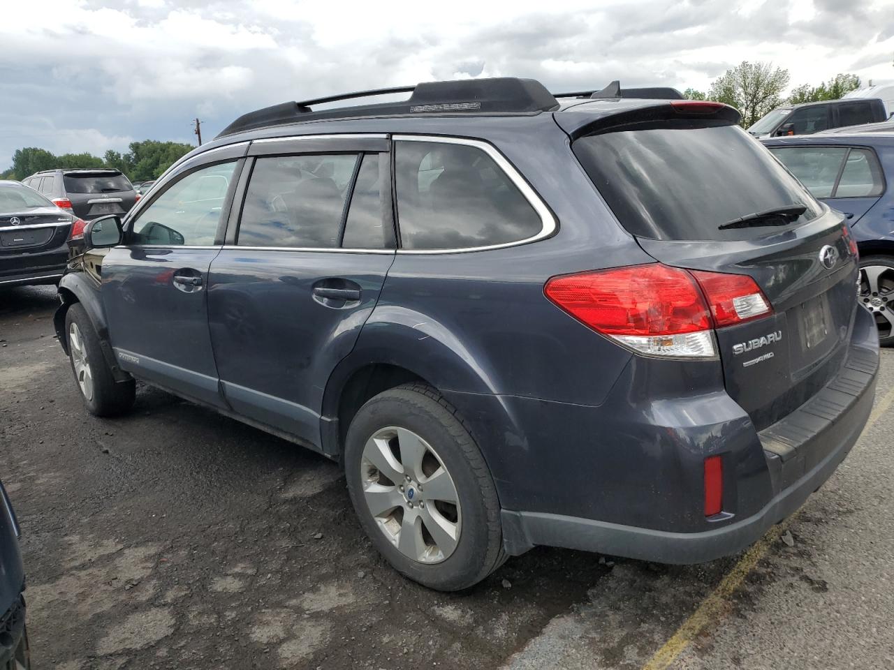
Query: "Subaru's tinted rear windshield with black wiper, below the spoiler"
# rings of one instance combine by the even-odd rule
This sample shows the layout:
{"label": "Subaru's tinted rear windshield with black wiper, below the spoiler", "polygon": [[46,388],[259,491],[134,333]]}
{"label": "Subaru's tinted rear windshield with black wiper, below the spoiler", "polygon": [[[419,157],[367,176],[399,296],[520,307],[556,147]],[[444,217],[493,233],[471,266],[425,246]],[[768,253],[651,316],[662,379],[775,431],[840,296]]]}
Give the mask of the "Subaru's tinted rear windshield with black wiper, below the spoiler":
{"label": "Subaru's tinted rear windshield with black wiper, below the spoiler", "polygon": [[[639,237],[753,239],[822,214],[822,205],[738,126],[669,121],[580,138],[573,149],[611,211]],[[805,213],[785,225],[719,228],[792,205],[804,205]]]}

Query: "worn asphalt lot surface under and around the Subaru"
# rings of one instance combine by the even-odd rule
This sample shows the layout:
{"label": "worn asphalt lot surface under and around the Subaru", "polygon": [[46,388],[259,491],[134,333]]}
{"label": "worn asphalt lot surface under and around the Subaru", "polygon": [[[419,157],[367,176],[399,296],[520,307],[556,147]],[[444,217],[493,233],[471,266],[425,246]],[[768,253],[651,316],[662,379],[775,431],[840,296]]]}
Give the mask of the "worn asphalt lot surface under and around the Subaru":
{"label": "worn asphalt lot surface under and around the Subaru", "polygon": [[89,416],[55,304],[0,289],[0,479],[37,670],[894,666],[894,352],[872,425],[741,588],[715,591],[738,557],[536,549],[443,595],[377,557],[322,457],[148,387]]}

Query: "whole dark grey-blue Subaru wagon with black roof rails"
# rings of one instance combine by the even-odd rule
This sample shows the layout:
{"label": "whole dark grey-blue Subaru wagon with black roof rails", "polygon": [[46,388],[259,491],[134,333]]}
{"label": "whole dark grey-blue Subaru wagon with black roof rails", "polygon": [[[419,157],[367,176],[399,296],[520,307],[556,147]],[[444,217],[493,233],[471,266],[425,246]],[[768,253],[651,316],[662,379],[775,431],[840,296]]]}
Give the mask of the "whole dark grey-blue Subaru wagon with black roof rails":
{"label": "whole dark grey-blue Subaru wagon with black roof rails", "polygon": [[[89,224],[59,341],[340,460],[392,565],[457,590],[535,545],[746,548],[854,445],[856,246],[732,108],[434,82],[234,121]],[[561,102],[560,102],[561,100]]]}

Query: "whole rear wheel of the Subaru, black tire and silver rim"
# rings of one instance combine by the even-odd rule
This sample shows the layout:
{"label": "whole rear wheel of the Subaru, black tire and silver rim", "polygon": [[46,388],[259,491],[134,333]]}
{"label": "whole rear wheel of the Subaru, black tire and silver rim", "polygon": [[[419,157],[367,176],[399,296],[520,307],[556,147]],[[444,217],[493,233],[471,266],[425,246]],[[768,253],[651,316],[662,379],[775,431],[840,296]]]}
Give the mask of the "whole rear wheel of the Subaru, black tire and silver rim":
{"label": "whole rear wheel of the Subaru, black tire and silver rim", "polygon": [[491,473],[456,410],[431,387],[405,384],[360,407],[344,465],[360,525],[399,573],[454,591],[505,562]]}

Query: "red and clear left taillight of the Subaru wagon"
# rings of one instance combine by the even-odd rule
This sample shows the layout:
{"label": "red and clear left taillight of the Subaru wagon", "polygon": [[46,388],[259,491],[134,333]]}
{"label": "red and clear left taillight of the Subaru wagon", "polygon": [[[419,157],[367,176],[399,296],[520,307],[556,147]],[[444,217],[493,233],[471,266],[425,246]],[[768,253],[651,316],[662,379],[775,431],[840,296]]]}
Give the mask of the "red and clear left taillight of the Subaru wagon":
{"label": "red and clear left taillight of the Subaru wagon", "polygon": [[772,313],[750,277],[657,263],[553,277],[544,294],[595,331],[654,356],[716,356],[714,328]]}

